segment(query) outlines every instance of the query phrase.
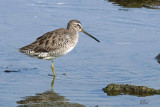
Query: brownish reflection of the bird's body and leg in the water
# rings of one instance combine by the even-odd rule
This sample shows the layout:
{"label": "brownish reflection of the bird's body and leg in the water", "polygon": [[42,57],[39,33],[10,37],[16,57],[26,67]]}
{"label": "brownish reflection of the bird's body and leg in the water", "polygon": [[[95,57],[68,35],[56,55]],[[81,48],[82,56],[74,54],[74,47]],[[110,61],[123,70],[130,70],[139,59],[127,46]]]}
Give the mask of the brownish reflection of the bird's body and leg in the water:
{"label": "brownish reflection of the bird's body and leg in the water", "polygon": [[55,93],[53,90],[54,82],[55,77],[53,77],[51,82],[51,91],[24,97],[23,100],[17,101],[18,107],[85,107],[78,103],[67,102],[68,99]]}

